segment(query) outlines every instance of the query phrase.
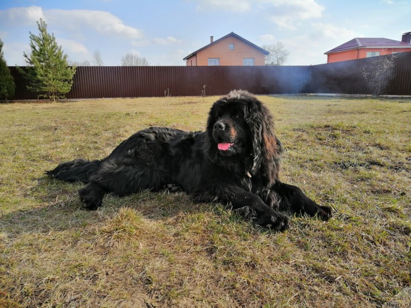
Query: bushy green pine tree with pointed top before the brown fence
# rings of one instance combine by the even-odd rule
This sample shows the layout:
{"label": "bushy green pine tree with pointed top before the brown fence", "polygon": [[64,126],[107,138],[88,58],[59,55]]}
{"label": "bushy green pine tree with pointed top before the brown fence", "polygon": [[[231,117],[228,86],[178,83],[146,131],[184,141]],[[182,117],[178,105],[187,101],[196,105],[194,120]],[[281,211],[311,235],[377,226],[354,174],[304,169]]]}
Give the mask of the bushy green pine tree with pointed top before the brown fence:
{"label": "bushy green pine tree with pointed top before the brown fence", "polygon": [[73,85],[76,66],[68,66],[67,54],[55,42],[54,34],[47,33],[46,23],[37,23],[40,34],[30,33],[31,54],[23,53],[27,67],[18,70],[29,80],[27,89],[55,101],[63,98]]}

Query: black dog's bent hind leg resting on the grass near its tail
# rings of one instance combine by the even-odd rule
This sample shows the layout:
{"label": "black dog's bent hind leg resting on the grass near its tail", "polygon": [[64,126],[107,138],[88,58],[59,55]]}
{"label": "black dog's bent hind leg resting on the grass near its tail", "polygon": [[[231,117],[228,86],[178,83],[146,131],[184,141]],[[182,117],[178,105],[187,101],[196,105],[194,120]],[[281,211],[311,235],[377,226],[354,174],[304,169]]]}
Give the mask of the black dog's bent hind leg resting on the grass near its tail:
{"label": "black dog's bent hind leg resting on the grass near its tail", "polygon": [[126,196],[143,189],[160,190],[166,183],[166,174],[166,170],[154,168],[150,164],[124,164],[116,160],[107,160],[91,177],[89,184],[79,190],[79,195],[85,208],[97,209],[107,192]]}

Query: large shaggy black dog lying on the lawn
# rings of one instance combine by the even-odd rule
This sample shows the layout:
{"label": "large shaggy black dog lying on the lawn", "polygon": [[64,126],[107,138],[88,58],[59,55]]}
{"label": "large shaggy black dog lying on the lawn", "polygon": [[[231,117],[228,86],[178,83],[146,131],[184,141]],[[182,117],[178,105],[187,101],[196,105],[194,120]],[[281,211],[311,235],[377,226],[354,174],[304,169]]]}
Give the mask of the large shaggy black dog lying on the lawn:
{"label": "large shaggy black dog lying on the lawn", "polygon": [[87,183],[79,191],[87,209],[101,206],[107,192],[125,196],[178,186],[195,202],[231,205],[274,230],[288,226],[280,210],[328,219],[331,208],[279,181],[282,152],[270,111],[251,93],[234,90],[211,107],[205,132],[147,128],[103,160],[61,163],[46,174]]}

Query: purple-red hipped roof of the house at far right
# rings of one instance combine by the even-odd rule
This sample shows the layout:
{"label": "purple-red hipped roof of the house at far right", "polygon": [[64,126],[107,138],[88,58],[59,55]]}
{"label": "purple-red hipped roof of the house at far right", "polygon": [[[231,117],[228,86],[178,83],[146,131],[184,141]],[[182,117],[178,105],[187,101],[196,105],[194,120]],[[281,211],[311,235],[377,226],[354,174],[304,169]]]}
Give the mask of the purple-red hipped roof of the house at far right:
{"label": "purple-red hipped roof of the house at far right", "polygon": [[384,37],[356,37],[324,54],[357,48],[411,48],[411,44]]}

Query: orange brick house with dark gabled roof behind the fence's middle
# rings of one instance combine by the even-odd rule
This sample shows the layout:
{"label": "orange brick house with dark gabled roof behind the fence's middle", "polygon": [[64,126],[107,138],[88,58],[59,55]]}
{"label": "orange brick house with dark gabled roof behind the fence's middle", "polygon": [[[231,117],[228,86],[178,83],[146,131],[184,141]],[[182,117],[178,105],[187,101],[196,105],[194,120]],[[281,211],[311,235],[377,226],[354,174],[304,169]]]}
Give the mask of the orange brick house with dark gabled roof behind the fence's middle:
{"label": "orange brick house with dark gabled roof behind the fence's middle", "polygon": [[268,54],[267,50],[231,32],[216,41],[210,36],[210,44],[190,53],[183,60],[187,66],[265,65]]}

